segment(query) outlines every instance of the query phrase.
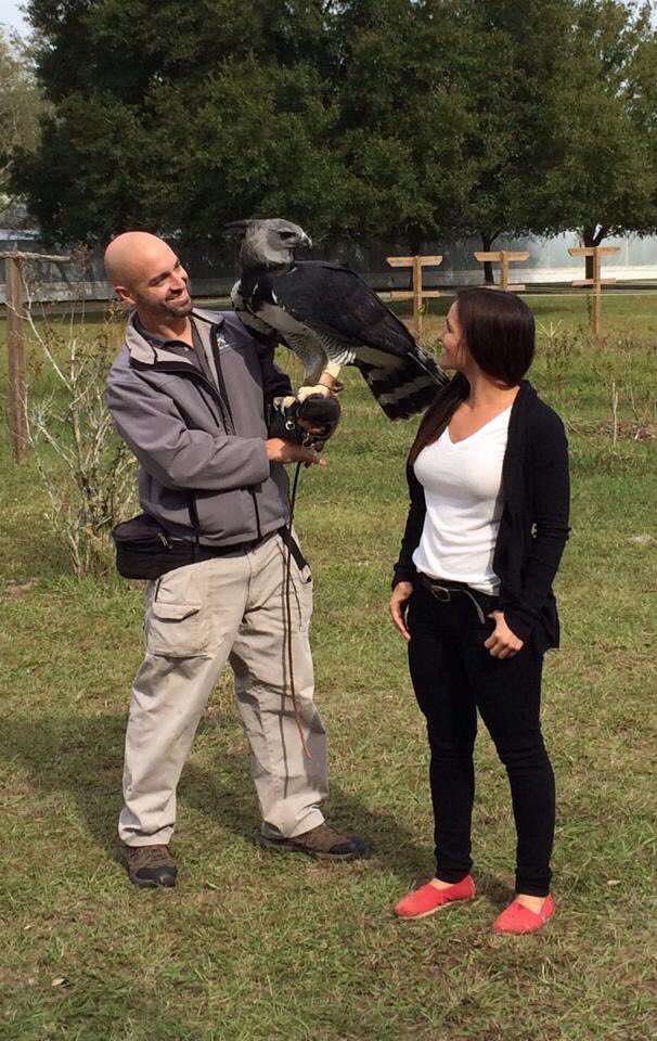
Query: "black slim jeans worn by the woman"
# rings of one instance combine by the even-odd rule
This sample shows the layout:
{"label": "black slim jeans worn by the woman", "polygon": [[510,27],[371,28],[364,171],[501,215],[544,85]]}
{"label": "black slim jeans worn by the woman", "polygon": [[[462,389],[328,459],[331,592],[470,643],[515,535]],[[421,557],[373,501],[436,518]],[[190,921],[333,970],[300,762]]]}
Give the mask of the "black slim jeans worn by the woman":
{"label": "black slim jeans worn by the woman", "polygon": [[[482,600],[486,615],[490,607]],[[541,734],[542,655],[525,645],[512,658],[493,658],[484,646],[493,620],[486,618],[482,625],[464,593],[453,593],[449,603],[442,603],[417,587],[408,628],[411,679],[430,747],[437,876],[460,882],[473,864],[478,709],[511,784],[516,892],[545,896],[554,838],[554,773]]]}

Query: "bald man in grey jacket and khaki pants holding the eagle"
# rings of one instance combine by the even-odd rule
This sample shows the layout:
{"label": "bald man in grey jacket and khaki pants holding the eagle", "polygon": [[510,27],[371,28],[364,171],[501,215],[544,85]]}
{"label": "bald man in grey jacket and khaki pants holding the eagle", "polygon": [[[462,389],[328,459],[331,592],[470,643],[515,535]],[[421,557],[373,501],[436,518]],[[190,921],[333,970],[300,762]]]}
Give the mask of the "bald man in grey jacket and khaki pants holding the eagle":
{"label": "bald man in grey jacket and khaki pants holding the eagle", "polygon": [[[312,701],[312,587],[294,541],[287,601],[296,714],[284,654],[291,532],[282,464],[323,464],[268,430],[272,408],[289,402],[289,381],[271,346],[234,313],[193,308],[188,274],[160,239],[119,235],[105,267],[119,298],[134,308],[107,403],[140,464],[142,509],[195,561],[146,586],[145,657],[132,687],[119,818],[130,879],[176,884],[168,848],[176,788],[227,661],[250,745],[261,844],[331,860],[358,857],[362,841],[335,832],[321,811],[326,742]],[[283,428],[294,438],[289,414]]]}

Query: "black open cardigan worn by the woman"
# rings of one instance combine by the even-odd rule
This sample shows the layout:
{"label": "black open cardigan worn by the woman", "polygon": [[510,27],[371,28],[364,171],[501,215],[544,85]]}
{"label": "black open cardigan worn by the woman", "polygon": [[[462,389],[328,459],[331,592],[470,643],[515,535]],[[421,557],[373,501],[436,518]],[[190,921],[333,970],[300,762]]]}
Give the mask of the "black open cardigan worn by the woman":
{"label": "black open cardigan worn by the woman", "polygon": [[[392,586],[413,581],[426,502],[407,467],[411,505]],[[557,647],[559,624],[552,582],[568,539],[568,445],[564,424],[524,380],[511,409],[502,465],[504,507],[493,555],[500,609],[510,629],[539,653]]]}

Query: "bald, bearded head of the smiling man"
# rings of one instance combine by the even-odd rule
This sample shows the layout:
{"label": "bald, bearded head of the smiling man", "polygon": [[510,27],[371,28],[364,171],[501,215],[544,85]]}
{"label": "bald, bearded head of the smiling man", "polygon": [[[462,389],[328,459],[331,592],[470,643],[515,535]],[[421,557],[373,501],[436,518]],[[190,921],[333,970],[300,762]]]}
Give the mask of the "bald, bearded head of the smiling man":
{"label": "bald, bearded head of the smiling man", "polygon": [[107,279],[151,326],[192,310],[188,273],[170,246],[147,231],[126,231],[105,249]]}

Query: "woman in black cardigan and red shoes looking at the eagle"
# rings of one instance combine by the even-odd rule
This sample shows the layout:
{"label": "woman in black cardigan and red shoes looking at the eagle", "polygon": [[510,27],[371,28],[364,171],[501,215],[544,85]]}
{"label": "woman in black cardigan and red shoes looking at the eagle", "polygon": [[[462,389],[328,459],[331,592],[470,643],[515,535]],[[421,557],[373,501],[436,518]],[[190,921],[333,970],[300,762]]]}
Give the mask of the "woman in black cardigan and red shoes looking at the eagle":
{"label": "woman in black cardigan and red shoes looking at the eagle", "polygon": [[534,326],[518,297],[460,294],[441,343],[439,364],[455,375],[411,448],[389,605],[427,722],[437,869],[395,911],[424,917],[475,895],[478,710],[506,767],[517,832],[516,896],[493,930],[534,933],[554,911],[554,774],[539,710],[543,654],[558,645],[552,581],[568,538],[567,444],[556,413],[523,380]]}

